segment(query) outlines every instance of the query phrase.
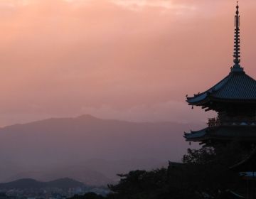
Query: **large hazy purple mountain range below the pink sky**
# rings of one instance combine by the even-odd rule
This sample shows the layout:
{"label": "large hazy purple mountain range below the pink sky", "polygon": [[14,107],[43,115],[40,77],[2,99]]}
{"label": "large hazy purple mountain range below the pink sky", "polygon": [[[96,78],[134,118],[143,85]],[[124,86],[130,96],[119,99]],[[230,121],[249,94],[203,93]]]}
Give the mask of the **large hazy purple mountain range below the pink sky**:
{"label": "large hazy purple mountain range below the pink sky", "polygon": [[90,115],[53,118],[0,129],[0,181],[74,178],[105,185],[116,173],[178,161],[195,124],[124,122]]}

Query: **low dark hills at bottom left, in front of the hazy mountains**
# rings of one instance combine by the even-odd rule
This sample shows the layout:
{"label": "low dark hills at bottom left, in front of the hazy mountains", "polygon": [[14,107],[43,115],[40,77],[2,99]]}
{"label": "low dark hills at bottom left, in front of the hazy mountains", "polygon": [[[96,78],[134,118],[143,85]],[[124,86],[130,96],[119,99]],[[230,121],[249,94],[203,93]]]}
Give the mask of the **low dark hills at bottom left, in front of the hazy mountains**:
{"label": "low dark hills at bottom left, in front of the hazy mountains", "polygon": [[20,179],[9,183],[0,183],[0,189],[13,189],[13,188],[61,188],[67,190],[68,188],[84,187],[85,184],[75,181],[70,178],[62,178],[55,181],[40,182],[31,178]]}

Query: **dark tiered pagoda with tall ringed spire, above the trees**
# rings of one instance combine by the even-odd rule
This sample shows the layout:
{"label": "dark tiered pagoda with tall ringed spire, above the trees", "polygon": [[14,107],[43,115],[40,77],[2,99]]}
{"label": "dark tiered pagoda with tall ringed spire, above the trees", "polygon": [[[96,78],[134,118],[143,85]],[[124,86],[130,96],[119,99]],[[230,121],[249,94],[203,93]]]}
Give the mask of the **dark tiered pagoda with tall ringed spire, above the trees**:
{"label": "dark tiered pagoda with tall ringed spire, above the trees", "polygon": [[208,119],[208,127],[184,134],[186,141],[212,145],[238,140],[251,146],[256,143],[256,80],[240,65],[240,15],[235,12],[233,67],[230,73],[205,92],[186,96],[189,105],[217,112]]}

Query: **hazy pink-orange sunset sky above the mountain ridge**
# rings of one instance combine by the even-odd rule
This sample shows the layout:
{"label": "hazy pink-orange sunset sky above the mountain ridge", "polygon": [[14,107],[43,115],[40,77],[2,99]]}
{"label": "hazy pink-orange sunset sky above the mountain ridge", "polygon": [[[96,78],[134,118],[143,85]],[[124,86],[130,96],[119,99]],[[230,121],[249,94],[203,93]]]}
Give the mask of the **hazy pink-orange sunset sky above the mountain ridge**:
{"label": "hazy pink-orange sunset sky above the mountain ridge", "polygon": [[[233,0],[1,0],[0,126],[48,117],[201,122],[185,95],[233,65]],[[240,2],[256,77],[256,1]]]}

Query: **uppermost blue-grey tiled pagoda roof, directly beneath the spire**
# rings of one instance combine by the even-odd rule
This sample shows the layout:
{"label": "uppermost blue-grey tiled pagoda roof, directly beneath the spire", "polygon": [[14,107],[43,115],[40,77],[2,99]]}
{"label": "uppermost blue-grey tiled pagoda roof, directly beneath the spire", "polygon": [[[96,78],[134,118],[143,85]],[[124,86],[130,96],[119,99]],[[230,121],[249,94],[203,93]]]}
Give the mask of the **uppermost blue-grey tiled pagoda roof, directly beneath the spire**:
{"label": "uppermost blue-grey tiled pagoda roof, directly beneath the spire", "polygon": [[231,70],[228,76],[210,89],[186,99],[188,104],[196,106],[210,101],[256,103],[256,80],[243,70]]}

